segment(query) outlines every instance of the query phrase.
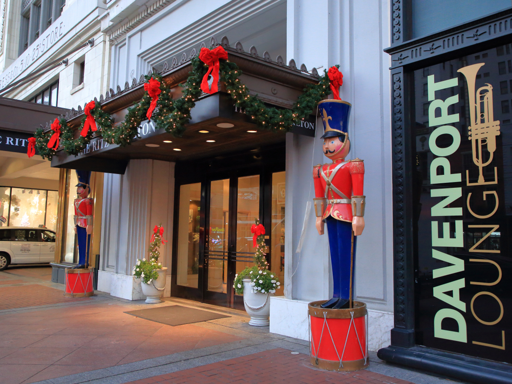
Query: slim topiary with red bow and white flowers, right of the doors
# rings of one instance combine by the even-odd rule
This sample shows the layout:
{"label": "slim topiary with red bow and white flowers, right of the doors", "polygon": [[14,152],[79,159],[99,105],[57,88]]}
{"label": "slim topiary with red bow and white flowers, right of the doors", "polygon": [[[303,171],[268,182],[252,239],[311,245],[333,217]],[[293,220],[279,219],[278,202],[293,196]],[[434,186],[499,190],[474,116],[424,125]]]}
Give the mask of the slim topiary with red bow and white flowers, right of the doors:
{"label": "slim topiary with red bow and white flowers, right of the doors", "polygon": [[256,252],[254,253],[254,266],[246,267],[240,273],[234,276],[234,291],[238,294],[244,292],[244,279],[250,279],[252,293],[274,293],[280,288],[281,283],[278,277],[272,271],[268,270],[268,263],[265,258],[265,228],[260,224],[260,220],[254,220],[251,232],[257,237]]}

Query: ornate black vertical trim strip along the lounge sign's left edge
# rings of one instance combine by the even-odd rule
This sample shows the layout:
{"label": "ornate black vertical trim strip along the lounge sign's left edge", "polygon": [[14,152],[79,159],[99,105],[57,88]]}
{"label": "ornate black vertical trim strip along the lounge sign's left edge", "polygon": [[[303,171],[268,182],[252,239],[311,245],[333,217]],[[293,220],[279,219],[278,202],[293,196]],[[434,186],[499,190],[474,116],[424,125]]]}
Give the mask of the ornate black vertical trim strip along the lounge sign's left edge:
{"label": "ornate black vertical trim strip along the lounge sign's left edge", "polygon": [[395,327],[405,327],[406,286],[403,198],[403,73],[393,73],[393,221],[395,254]]}

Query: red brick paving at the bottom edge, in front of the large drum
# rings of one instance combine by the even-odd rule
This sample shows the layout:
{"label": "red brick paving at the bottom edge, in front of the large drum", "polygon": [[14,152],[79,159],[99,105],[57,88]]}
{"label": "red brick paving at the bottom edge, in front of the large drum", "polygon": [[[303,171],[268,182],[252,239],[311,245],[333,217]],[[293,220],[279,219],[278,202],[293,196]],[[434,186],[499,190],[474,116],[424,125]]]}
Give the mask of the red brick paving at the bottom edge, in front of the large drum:
{"label": "red brick paving at the bottom edge, in front of the large drum", "polygon": [[412,384],[410,381],[369,370],[329,372],[314,368],[305,354],[292,355],[286,349],[237,357],[183,371],[132,381],[132,384],[273,384],[273,383]]}

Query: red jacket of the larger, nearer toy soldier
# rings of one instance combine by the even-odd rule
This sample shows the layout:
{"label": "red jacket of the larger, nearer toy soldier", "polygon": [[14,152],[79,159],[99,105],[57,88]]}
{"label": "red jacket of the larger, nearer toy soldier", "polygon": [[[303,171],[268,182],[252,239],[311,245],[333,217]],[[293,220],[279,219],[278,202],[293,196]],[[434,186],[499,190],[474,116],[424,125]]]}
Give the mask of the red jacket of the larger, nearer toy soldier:
{"label": "red jacket of the larger, nearer toy soldier", "polygon": [[351,198],[362,196],[365,164],[360,159],[337,160],[334,163],[313,167],[315,197],[327,198],[327,207],[322,216],[352,222]]}

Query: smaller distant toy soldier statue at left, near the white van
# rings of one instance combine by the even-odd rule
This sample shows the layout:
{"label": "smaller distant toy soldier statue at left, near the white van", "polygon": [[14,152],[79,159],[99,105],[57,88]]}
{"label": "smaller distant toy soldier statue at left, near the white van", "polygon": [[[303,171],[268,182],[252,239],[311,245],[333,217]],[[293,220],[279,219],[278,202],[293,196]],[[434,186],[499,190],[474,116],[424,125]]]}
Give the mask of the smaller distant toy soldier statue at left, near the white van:
{"label": "smaller distant toy soldier statue at left, near the white van", "polygon": [[91,252],[91,233],[93,232],[93,199],[89,197],[91,186],[91,172],[77,170],[75,199],[75,233],[78,242],[78,265],[73,268],[87,268],[89,265],[89,253]]}

